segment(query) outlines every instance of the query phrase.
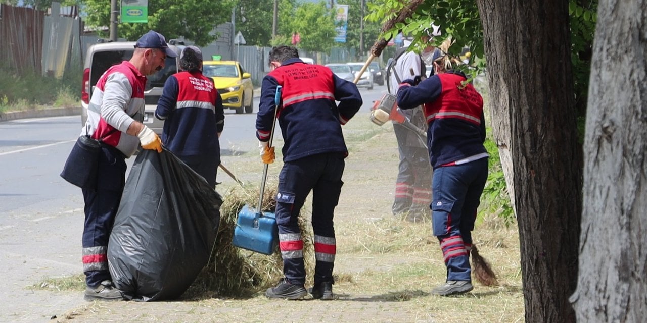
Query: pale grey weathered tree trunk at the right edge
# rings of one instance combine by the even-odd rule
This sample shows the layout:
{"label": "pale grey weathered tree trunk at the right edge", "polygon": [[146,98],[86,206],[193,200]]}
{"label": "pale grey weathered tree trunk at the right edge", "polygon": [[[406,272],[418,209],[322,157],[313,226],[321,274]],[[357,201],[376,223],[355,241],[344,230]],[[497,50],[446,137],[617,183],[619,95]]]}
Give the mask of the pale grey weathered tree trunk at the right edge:
{"label": "pale grey weathered tree trunk at the right edge", "polygon": [[580,322],[647,319],[647,1],[598,4],[584,141]]}

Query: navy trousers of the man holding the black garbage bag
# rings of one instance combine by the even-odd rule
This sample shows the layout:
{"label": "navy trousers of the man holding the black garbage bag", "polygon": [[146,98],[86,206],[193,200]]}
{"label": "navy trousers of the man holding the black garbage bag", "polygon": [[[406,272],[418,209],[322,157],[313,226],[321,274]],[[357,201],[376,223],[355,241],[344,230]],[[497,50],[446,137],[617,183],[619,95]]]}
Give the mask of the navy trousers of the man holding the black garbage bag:
{"label": "navy trousers of the man holding the black garbage bag", "polygon": [[115,148],[102,148],[98,163],[96,189],[83,189],[85,223],[83,225],[83,272],[87,286],[98,286],[111,279],[107,263],[107,245],[121,202],[126,180],[126,162]]}

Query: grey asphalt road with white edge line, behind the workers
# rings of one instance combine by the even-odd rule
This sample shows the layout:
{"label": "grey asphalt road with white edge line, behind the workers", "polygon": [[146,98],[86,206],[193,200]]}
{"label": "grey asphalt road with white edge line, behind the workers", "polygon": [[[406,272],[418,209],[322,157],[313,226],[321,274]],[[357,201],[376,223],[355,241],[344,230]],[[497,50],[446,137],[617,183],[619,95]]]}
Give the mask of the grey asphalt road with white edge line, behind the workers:
{"label": "grey asphalt road with white edge line, behind the workers", "polygon": [[[367,112],[386,87],[360,91]],[[223,154],[256,150],[256,113],[225,113]],[[0,122],[0,322],[45,322],[84,304],[82,293],[30,289],[82,272],[82,194],[59,176],[80,128],[80,116]]]}

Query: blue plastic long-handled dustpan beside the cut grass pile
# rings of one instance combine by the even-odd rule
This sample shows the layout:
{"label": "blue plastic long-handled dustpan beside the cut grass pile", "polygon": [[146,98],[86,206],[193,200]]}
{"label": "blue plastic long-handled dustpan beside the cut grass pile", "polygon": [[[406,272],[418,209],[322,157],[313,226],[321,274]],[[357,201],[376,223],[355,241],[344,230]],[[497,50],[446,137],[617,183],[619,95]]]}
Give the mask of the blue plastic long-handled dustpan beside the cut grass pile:
{"label": "blue plastic long-handled dustpan beside the cut grass pile", "polygon": [[243,206],[238,213],[232,245],[256,253],[272,255],[278,242],[279,231],[274,213],[256,214],[256,211],[248,205]]}

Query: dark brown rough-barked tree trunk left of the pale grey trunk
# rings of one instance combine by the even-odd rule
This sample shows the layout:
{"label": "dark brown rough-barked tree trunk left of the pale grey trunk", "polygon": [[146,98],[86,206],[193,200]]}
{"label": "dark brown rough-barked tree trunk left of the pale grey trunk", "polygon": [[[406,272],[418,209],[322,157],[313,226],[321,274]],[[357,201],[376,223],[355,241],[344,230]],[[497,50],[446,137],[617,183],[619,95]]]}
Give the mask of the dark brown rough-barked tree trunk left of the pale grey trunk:
{"label": "dark brown rough-barked tree trunk left of the pale grey trunk", "polygon": [[582,154],[568,1],[477,3],[494,135],[512,158],[526,322],[575,322]]}

